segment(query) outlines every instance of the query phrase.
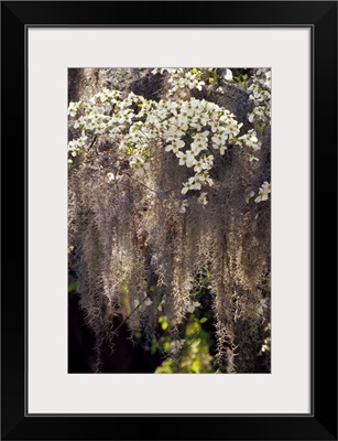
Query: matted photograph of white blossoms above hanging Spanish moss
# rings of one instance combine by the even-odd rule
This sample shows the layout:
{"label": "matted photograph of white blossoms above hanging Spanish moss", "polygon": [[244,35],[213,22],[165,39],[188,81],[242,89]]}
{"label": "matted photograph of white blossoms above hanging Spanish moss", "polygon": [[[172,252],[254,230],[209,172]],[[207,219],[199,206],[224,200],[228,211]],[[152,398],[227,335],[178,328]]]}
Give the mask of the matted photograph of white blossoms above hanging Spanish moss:
{"label": "matted photograph of white blossoms above hanging Spanish moss", "polygon": [[271,85],[68,68],[69,374],[271,373]]}

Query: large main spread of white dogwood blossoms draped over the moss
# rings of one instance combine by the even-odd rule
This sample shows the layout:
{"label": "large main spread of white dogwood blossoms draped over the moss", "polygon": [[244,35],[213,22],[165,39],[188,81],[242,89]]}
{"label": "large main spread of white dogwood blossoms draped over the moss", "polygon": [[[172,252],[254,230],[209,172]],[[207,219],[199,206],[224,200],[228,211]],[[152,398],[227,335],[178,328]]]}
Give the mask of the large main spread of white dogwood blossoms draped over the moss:
{"label": "large main spread of white dogwood blossoms draped over the moss", "polygon": [[[69,108],[74,108],[73,103]],[[228,141],[236,139],[242,126],[229,110],[204,99],[156,103],[133,93],[122,99],[120,92],[107,89],[95,95],[89,104],[83,104],[81,111],[74,122],[81,137],[68,143],[72,155],[88,149],[90,136],[105,133],[117,141],[135,175],[142,176],[162,144],[166,152],[176,155],[178,165],[194,171],[183,183],[182,194],[214,184],[209,174],[214,151],[223,155]],[[254,135],[244,142],[254,146]],[[207,204],[206,193],[198,202]],[[185,207],[181,209],[184,212]]]}

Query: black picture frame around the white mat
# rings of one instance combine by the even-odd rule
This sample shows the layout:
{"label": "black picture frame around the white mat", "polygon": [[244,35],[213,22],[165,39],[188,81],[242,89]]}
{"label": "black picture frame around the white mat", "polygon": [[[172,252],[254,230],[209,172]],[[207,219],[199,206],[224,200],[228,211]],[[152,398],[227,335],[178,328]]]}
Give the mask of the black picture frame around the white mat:
{"label": "black picture frame around the white mat", "polygon": [[[26,415],[25,35],[35,25],[312,29],[310,415]],[[328,252],[336,251],[337,244],[337,2],[2,1],[1,62],[1,439],[337,440],[337,261],[336,252]],[[297,344],[296,338],[295,330],[290,343]]]}

